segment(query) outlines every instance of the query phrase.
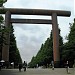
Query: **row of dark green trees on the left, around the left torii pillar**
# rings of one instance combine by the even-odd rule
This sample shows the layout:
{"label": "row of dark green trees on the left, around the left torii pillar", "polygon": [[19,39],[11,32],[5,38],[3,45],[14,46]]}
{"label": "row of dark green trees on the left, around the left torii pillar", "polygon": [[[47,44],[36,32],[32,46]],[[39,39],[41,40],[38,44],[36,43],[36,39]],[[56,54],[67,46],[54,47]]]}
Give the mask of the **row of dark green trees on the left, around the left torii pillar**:
{"label": "row of dark green trees on the left, around the left torii pillar", "polygon": [[[4,0],[0,0],[0,4],[3,5],[3,1]],[[6,44],[6,38],[4,37],[4,33],[7,31],[10,31],[9,62],[10,63],[14,62],[14,66],[16,67],[18,63],[22,63],[22,59],[20,56],[20,52],[17,48],[15,36],[13,34],[14,29],[12,25],[10,26],[9,30],[6,29],[4,26],[4,18],[0,16],[0,60],[2,60],[3,44]]]}

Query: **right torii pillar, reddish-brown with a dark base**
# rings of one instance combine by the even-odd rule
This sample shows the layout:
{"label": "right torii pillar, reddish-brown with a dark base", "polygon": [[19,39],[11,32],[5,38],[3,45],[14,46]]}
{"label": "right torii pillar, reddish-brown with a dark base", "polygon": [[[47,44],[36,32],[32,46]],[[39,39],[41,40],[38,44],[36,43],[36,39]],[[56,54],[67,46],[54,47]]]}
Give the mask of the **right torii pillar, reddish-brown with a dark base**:
{"label": "right torii pillar, reddish-brown with a dark base", "polygon": [[60,67],[60,53],[59,53],[59,29],[57,22],[57,14],[52,14],[52,34],[53,34],[53,58],[54,67]]}

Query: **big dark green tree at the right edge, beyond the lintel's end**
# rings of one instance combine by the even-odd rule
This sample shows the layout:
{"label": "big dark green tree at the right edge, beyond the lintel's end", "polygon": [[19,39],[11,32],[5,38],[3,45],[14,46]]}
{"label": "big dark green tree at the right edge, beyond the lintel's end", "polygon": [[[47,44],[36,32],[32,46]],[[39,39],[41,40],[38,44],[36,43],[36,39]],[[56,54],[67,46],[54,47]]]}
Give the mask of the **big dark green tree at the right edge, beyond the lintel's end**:
{"label": "big dark green tree at the right edge, beyond the lintel's end", "polygon": [[72,67],[75,60],[75,19],[74,23],[70,24],[70,32],[67,37],[67,42],[64,44],[63,61],[69,61]]}

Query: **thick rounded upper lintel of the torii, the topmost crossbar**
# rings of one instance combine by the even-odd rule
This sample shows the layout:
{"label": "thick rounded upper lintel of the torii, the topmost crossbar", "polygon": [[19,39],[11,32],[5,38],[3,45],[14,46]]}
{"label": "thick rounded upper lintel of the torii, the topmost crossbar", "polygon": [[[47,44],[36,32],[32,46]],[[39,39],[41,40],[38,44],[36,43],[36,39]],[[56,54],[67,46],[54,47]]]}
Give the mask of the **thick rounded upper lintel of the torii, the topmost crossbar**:
{"label": "thick rounded upper lintel of the torii, the topmost crossbar", "polygon": [[70,17],[70,15],[71,15],[70,11],[64,11],[64,10],[0,8],[0,14],[5,14],[7,11],[10,11],[11,14],[17,14],[17,15],[46,15],[46,16],[51,16],[52,13],[56,13],[57,16],[66,16],[66,17]]}

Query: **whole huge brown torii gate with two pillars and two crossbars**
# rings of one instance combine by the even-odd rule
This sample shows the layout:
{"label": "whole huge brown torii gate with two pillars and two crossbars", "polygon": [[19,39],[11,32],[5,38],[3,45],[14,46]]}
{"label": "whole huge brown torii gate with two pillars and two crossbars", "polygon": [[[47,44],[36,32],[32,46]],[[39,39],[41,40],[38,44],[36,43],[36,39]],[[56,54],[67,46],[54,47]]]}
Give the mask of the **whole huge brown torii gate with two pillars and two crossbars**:
{"label": "whole huge brown torii gate with two pillars and two crossbars", "polygon": [[[59,31],[57,16],[70,17],[70,11],[61,10],[43,10],[43,9],[19,9],[19,8],[0,8],[0,14],[5,14],[5,27],[9,28],[10,23],[29,23],[29,24],[52,24],[53,33],[53,57],[55,67],[59,67],[60,53],[59,53]],[[45,15],[52,16],[51,20],[43,19],[14,19],[11,15]],[[7,45],[4,44],[2,50],[2,59],[6,62],[9,61],[9,45],[10,34],[6,35]]]}

